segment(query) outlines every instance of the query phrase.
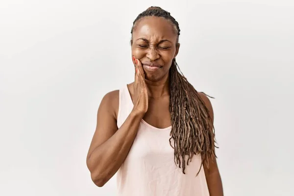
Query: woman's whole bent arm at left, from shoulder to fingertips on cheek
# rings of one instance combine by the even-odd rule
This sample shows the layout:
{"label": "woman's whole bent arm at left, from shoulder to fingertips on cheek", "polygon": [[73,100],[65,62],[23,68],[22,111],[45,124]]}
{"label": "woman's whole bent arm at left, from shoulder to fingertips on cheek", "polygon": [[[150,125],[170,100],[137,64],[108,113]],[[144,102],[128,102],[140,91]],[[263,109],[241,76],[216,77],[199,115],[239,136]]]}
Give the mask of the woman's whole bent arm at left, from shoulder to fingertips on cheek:
{"label": "woman's whole bent arm at left, from shoulder to fingertips on cheek", "polygon": [[87,167],[98,187],[102,187],[121,167],[147,112],[148,97],[141,62],[136,64],[136,68],[139,71],[135,74],[133,85],[134,109],[122,126],[118,129],[115,112],[118,91],[106,94],[98,109],[97,127],[87,155]]}

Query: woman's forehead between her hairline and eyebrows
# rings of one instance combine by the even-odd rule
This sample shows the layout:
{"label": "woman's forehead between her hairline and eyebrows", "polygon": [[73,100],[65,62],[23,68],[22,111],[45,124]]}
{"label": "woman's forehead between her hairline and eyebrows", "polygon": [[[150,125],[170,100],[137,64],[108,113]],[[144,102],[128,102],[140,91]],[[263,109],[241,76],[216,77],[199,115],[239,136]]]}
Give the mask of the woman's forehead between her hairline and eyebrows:
{"label": "woman's forehead between her hairline and eyebrows", "polygon": [[176,42],[177,34],[171,22],[163,17],[148,16],[138,21],[133,31],[133,39],[146,38],[149,41],[162,39]]}

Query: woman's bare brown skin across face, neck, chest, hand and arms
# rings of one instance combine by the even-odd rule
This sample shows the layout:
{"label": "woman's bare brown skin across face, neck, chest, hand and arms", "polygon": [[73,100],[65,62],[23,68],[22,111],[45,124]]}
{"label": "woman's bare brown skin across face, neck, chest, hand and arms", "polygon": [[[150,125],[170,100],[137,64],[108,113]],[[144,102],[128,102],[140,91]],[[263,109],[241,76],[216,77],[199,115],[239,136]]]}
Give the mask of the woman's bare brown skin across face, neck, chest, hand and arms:
{"label": "woman's bare brown skin across face, neck, chest, hand and arms", "polygon": [[[169,111],[169,69],[179,51],[173,25],[164,18],[145,17],[137,22],[132,35],[132,57],[135,82],[128,84],[134,109],[120,127],[117,127],[119,91],[108,93],[102,99],[97,115],[97,127],[87,155],[87,166],[94,183],[103,186],[120,168],[136,137],[141,119],[158,128],[171,126]],[[144,62],[161,67],[148,71]],[[214,119],[210,100],[199,93],[210,117]],[[160,121],[158,121],[160,119]],[[221,176],[216,158],[204,167],[210,196],[223,196]]]}

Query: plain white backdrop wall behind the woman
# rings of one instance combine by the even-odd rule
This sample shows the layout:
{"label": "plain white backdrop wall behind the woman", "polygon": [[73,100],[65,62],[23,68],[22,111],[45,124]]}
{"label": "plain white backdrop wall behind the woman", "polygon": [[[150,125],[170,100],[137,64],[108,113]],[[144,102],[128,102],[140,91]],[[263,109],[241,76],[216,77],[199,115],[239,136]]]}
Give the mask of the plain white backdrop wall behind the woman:
{"label": "plain white backdrop wall behind the woman", "polygon": [[152,5],[179,23],[181,71],[215,98],[224,195],[294,196],[293,0],[1,0],[1,196],[115,196],[86,155],[101,98],[133,81],[131,26]]}

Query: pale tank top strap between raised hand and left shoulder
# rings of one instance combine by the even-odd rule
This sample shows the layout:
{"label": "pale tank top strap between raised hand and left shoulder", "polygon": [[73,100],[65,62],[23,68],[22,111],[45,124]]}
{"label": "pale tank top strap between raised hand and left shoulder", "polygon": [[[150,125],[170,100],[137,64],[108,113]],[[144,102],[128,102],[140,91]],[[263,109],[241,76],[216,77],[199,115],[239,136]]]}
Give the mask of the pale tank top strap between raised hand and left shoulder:
{"label": "pale tank top strap between raised hand and left shoulder", "polygon": [[118,119],[117,119],[117,126],[120,128],[123,122],[126,120],[128,115],[131,113],[133,109],[133,102],[130,96],[129,90],[127,85],[124,85],[119,90],[119,112],[118,112]]}

